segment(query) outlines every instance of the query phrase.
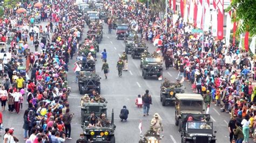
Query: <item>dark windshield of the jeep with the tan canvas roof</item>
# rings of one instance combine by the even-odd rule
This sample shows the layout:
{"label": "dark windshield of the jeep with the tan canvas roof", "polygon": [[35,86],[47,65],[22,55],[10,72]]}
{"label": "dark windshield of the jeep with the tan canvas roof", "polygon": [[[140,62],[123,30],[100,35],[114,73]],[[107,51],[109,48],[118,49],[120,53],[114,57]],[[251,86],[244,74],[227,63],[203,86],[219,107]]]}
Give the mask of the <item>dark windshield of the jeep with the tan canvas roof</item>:
{"label": "dark windshield of the jeep with the tan canvas roof", "polygon": [[181,100],[180,101],[180,110],[188,111],[202,111],[203,110],[203,101],[191,101],[191,100]]}

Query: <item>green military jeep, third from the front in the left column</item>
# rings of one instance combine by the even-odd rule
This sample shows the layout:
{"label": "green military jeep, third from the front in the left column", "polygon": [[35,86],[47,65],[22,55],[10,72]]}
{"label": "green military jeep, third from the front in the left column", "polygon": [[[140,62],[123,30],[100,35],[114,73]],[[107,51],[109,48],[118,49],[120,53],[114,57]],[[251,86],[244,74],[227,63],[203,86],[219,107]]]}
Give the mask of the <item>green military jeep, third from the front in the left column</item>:
{"label": "green military jeep, third from the front in the left column", "polygon": [[78,89],[80,94],[91,93],[93,90],[100,94],[100,79],[98,74],[91,71],[79,71]]}

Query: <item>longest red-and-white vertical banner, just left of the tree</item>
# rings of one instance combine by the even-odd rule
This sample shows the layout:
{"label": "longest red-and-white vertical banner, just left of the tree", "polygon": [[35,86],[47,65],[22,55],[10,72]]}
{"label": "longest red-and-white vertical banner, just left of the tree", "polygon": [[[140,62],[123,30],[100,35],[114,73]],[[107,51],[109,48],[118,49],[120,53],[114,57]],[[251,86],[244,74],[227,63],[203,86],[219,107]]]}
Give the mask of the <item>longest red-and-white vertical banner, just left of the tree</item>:
{"label": "longest red-and-white vertical banner, just left of the tree", "polygon": [[216,0],[218,8],[218,28],[217,28],[217,38],[219,40],[223,39],[223,19],[224,19],[224,0]]}

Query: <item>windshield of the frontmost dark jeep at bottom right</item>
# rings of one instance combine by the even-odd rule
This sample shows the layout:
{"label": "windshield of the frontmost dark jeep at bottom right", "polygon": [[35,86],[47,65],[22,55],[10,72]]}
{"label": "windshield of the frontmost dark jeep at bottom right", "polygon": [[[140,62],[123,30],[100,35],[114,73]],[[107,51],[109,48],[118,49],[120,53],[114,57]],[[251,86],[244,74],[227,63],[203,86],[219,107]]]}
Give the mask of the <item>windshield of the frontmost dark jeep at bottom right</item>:
{"label": "windshield of the frontmost dark jeep at bottom right", "polygon": [[189,129],[205,129],[205,130],[212,130],[212,122],[206,122],[206,121],[188,121],[186,127],[187,127],[187,130],[189,130]]}

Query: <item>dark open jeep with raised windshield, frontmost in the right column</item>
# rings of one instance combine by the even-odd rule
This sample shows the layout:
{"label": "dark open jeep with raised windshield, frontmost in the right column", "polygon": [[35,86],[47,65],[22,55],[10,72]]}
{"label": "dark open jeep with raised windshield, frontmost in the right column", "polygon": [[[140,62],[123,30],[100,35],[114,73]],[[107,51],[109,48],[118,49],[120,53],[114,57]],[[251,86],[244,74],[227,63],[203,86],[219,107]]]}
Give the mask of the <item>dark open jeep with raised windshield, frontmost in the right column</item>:
{"label": "dark open jeep with raised windshield, frontmost in the right column", "polygon": [[215,143],[213,122],[208,114],[184,113],[181,115],[181,142],[182,143]]}

